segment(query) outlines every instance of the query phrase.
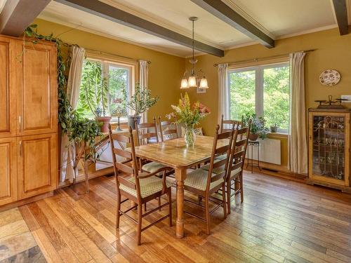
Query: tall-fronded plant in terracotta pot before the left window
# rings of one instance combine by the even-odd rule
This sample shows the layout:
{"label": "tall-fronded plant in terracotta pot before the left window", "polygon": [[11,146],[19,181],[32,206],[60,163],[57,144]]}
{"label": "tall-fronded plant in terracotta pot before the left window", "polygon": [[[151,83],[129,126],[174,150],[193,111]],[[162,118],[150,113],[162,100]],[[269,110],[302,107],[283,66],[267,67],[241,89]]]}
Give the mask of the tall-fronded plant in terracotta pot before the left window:
{"label": "tall-fronded plant in terracotta pot before the left window", "polygon": [[108,124],[111,120],[111,117],[107,116],[107,94],[108,84],[107,79],[102,76],[101,63],[86,60],[81,76],[80,109],[77,110],[81,112],[90,110],[95,119],[102,123],[102,133],[108,131]]}

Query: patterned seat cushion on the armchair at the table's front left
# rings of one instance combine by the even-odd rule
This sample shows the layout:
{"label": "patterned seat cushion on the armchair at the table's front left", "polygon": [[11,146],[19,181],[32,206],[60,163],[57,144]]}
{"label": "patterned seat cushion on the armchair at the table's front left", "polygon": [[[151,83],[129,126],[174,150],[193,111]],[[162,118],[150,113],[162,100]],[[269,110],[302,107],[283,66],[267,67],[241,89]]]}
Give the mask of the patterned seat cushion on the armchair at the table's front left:
{"label": "patterned seat cushion on the armchair at the table's front left", "polygon": [[[129,179],[129,181],[135,183],[135,177]],[[156,176],[151,176],[143,179],[139,179],[140,184],[140,195],[142,198],[151,196],[152,194],[162,191],[162,179]],[[166,187],[171,187],[171,182],[166,180]],[[126,191],[128,194],[137,196],[136,189],[126,187],[124,184],[119,184],[119,189]]]}

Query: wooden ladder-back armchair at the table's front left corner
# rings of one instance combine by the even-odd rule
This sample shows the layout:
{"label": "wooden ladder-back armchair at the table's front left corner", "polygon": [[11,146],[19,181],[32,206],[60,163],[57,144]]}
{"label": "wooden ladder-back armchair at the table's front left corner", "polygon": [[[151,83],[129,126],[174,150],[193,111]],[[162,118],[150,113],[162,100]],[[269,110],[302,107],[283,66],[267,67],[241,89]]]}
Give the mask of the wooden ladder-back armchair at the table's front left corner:
{"label": "wooden ladder-back armchair at the table's front left corner", "polygon": [[[172,226],[172,198],[171,198],[171,183],[166,181],[166,170],[163,170],[163,177],[158,178],[155,173],[139,173],[138,165],[135,156],[135,148],[133,141],[132,129],[129,128],[129,134],[126,135],[117,135],[113,134],[111,131],[111,126],[109,127],[109,137],[112,150],[112,160],[114,167],[114,175],[116,177],[117,183],[117,219],[116,227],[119,228],[119,217],[125,215],[128,219],[138,224],[138,245],[140,245],[141,232],[145,229],[148,229],[154,224],[157,224],[161,220],[169,218],[169,226]],[[121,149],[115,147],[115,144],[119,144]],[[129,144],[131,146],[131,152],[124,149],[124,144]],[[116,156],[121,157],[124,161],[117,161]],[[154,198],[161,197],[166,194],[168,196],[168,202],[163,205],[159,205],[157,208],[154,208],[147,213],[143,214],[142,205],[151,201]],[[126,197],[124,201],[121,201],[121,196]],[[121,210],[121,203],[124,203],[127,200],[131,200],[135,203],[133,207],[128,208],[125,211]],[[159,220],[152,222],[147,225],[147,227],[142,226],[143,217],[150,215],[168,205],[168,215],[161,217]],[[138,220],[135,220],[133,217],[127,213],[134,208],[138,208]]]}

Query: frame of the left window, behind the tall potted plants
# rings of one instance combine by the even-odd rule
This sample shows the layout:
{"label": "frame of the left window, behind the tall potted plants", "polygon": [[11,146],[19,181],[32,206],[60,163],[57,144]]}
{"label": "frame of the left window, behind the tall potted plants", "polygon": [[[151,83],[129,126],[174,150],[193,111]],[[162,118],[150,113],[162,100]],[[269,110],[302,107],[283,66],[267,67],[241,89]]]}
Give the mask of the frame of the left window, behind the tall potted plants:
{"label": "frame of the left window, behind the tall potted plants", "polygon": [[[102,76],[106,77],[107,83],[109,83],[108,86],[108,92],[107,92],[107,104],[108,104],[108,112],[110,112],[110,74],[109,74],[109,66],[116,66],[120,68],[125,68],[128,69],[128,100],[131,99],[131,96],[133,95],[135,91],[135,79],[137,78],[137,75],[135,74],[136,72],[136,67],[138,66],[138,63],[134,60],[128,60],[124,58],[110,58],[110,56],[104,56],[104,55],[97,55],[97,54],[87,54],[85,60],[91,60],[91,61],[98,61],[101,62],[102,65]],[[127,109],[127,115],[131,114],[131,110]],[[117,123],[117,117],[111,116],[110,123]],[[127,123],[128,121],[128,116],[126,117],[121,117],[119,119],[120,123]]]}

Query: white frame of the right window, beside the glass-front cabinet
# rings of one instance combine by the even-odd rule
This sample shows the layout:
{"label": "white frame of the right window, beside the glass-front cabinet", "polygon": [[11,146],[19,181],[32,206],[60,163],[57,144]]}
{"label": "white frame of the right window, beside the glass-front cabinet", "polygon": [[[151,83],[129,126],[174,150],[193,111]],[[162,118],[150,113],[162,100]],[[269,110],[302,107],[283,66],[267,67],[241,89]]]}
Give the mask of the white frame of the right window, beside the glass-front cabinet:
{"label": "white frame of the right window, beside the glass-front cabinet", "polygon": [[[265,63],[265,64],[260,64],[260,65],[253,65],[253,66],[243,66],[243,67],[237,67],[237,68],[232,68],[228,69],[228,76],[227,76],[227,88],[229,89],[228,94],[230,94],[230,74],[232,73],[239,73],[239,72],[248,72],[248,71],[255,71],[255,113],[258,117],[263,116],[263,111],[264,111],[264,80],[263,80],[263,72],[265,69],[271,69],[274,67],[289,67],[290,71],[290,62],[289,60],[284,60],[282,62],[272,62],[272,63]],[[290,73],[289,73],[289,81],[290,81]],[[289,115],[291,111],[291,87],[289,87]],[[230,101],[230,100],[229,100]],[[228,109],[230,112],[230,107],[232,105],[230,104]],[[290,123],[290,116],[289,116],[289,123]],[[290,125],[290,124],[289,124]],[[288,129],[277,129],[277,133],[283,133],[289,135],[289,128]]]}

